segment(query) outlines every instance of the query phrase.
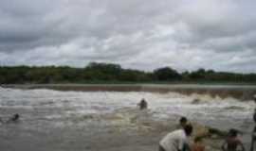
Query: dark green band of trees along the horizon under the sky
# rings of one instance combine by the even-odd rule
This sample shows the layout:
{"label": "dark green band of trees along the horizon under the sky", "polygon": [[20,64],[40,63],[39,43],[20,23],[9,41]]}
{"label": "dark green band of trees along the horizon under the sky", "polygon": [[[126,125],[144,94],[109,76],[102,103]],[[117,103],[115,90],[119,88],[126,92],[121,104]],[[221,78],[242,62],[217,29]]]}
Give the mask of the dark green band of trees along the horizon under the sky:
{"label": "dark green band of trees along the horizon under the sky", "polygon": [[143,72],[122,69],[118,64],[92,62],[84,68],[67,66],[0,67],[1,84],[30,83],[171,83],[171,82],[233,82],[256,83],[256,74],[234,74],[199,69],[178,73],[170,67]]}

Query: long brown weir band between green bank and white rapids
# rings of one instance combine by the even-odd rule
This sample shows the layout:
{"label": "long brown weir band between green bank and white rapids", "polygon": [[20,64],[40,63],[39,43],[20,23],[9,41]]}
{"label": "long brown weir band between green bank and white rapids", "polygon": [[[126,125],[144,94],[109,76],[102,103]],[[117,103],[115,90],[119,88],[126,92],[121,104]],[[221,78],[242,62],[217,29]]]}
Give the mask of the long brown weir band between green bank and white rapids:
{"label": "long brown weir band between green bank and white rapids", "polygon": [[256,94],[255,85],[221,84],[9,84],[10,89],[49,89],[77,92],[180,92],[183,94],[209,94],[212,97],[234,97],[251,100]]}

